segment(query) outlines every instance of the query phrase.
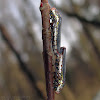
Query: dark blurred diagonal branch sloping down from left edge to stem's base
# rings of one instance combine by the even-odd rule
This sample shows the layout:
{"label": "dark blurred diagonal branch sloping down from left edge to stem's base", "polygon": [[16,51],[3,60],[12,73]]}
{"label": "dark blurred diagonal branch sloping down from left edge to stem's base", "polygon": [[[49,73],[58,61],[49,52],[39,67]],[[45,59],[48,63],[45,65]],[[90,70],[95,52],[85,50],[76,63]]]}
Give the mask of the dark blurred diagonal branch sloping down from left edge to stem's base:
{"label": "dark blurred diagonal branch sloping down from left edge to stem's base", "polygon": [[33,88],[35,88],[39,97],[41,97],[43,100],[45,100],[45,97],[43,96],[43,94],[41,93],[39,88],[36,86],[35,79],[34,79],[33,75],[31,74],[31,72],[28,70],[27,64],[25,64],[24,61],[21,59],[20,53],[17,51],[16,47],[13,46],[13,44],[12,44],[13,42],[11,41],[9,34],[3,25],[0,25],[0,33],[1,33],[1,36],[3,37],[3,39],[5,40],[5,42],[7,43],[7,45],[10,47],[10,49],[15,54],[15,56],[19,62],[21,70],[29,78]]}

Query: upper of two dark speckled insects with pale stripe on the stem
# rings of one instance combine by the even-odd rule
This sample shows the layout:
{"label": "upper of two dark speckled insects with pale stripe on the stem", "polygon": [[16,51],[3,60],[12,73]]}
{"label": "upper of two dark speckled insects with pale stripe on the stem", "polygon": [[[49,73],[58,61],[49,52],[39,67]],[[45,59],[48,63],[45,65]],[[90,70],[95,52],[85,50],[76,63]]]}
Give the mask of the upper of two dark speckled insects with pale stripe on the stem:
{"label": "upper of two dark speckled insects with pale stripe on the stem", "polygon": [[60,27],[61,27],[61,16],[56,10],[56,8],[52,8],[50,11],[50,16],[52,19],[52,47],[53,51],[60,51]]}

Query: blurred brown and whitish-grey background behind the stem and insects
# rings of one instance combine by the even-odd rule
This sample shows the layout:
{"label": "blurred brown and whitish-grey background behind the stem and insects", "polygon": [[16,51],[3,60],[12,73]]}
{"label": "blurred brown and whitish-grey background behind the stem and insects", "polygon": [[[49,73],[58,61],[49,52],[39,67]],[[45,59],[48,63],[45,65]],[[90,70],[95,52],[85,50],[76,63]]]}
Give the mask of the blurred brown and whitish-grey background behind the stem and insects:
{"label": "blurred brown and whitish-grey background behind the stem and insects", "polygon": [[[66,84],[55,100],[100,100],[100,0],[49,0],[62,16]],[[0,0],[0,100],[45,100],[40,0]]]}

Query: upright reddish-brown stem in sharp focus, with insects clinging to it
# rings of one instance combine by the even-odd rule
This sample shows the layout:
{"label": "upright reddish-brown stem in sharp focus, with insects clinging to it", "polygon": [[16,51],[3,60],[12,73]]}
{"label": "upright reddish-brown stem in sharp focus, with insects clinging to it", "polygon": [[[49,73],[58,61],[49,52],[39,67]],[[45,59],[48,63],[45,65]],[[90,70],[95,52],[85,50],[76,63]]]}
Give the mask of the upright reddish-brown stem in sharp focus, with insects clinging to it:
{"label": "upright reddish-brown stem in sharp focus, with insects clinging to it", "polygon": [[52,73],[52,48],[50,32],[50,6],[48,0],[41,0],[43,58],[46,78],[47,100],[54,100],[53,73]]}

